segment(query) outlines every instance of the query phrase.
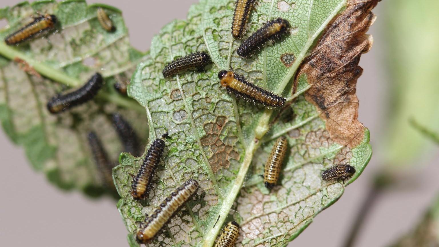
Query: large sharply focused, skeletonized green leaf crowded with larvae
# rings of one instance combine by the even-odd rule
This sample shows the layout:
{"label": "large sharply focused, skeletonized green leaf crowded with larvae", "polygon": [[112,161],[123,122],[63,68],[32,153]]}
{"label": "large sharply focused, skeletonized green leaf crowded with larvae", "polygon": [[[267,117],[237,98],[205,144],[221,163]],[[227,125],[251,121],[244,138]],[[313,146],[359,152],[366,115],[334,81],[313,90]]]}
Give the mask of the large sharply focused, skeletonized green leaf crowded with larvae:
{"label": "large sharply focused, skeletonized green leaf crowded with larvae", "polygon": [[[233,219],[241,225],[238,241],[243,246],[284,246],[315,215],[338,200],[345,185],[361,174],[371,157],[369,131],[356,120],[358,105],[354,99],[346,101],[344,97],[355,96],[355,87],[338,95],[343,97],[322,113],[322,105],[317,109],[312,100],[313,94],[304,94],[307,89],[315,88],[312,84],[317,78],[305,69],[300,70],[297,80],[294,75],[298,68],[309,65],[305,58],[319,37],[323,43],[319,43],[313,54],[321,54],[344,40],[352,41],[349,37],[358,35],[358,39],[356,36],[353,39],[358,44],[348,47],[359,50],[349,56],[345,56],[348,51],[333,52],[338,56],[336,62],[345,58],[347,69],[355,69],[356,73],[344,78],[355,86],[361,70],[357,66],[361,52],[367,52],[371,46],[365,31],[373,22],[370,10],[377,1],[258,1],[248,33],[277,17],[287,19],[292,28],[281,42],[267,46],[249,59],[241,59],[235,53],[241,41],[234,40],[230,33],[234,2],[201,0],[192,6],[187,20],[169,23],[153,38],[148,58],[137,66],[133,75],[128,90],[147,111],[150,142],[166,131],[169,138],[164,162],[158,167],[147,200],[135,201],[130,194],[130,174],[137,173],[142,158],[122,155],[121,164],[113,169],[122,197],[118,208],[130,232],[130,246],[139,246],[133,240],[138,222],[188,178],[197,179],[201,189],[158,234],[155,245],[209,247],[223,223]],[[326,44],[327,36],[322,36],[322,32],[339,13],[342,23],[346,23],[341,26],[346,30],[332,25],[333,29],[327,31],[335,37],[331,44]],[[351,24],[360,26],[360,30],[349,30]],[[208,51],[212,57],[213,64],[204,73],[189,71],[170,80],[163,78],[162,69],[168,62],[195,51]],[[288,55],[290,60],[293,57],[293,62],[284,63],[281,55]],[[333,61],[327,62],[328,66],[335,65]],[[340,66],[343,67],[337,65],[337,68]],[[219,89],[217,74],[229,67],[249,81],[282,94],[293,102],[291,107],[279,113],[236,101]],[[336,80],[343,76],[338,74],[341,70],[327,73],[334,72]],[[291,94],[293,84],[297,90]],[[321,97],[326,99],[326,95]],[[343,132],[334,127],[339,120],[324,118],[326,113],[334,114],[331,110],[339,106],[352,109],[349,113],[340,109],[343,113],[340,116],[360,125],[360,132],[355,132],[355,137],[349,140],[352,134],[349,126]],[[327,128],[328,123],[331,128]],[[286,135],[289,141],[288,157],[279,185],[270,192],[260,175],[274,140],[281,135]],[[353,178],[345,183],[322,181],[320,174],[325,167],[338,163],[353,165],[357,170]]]}

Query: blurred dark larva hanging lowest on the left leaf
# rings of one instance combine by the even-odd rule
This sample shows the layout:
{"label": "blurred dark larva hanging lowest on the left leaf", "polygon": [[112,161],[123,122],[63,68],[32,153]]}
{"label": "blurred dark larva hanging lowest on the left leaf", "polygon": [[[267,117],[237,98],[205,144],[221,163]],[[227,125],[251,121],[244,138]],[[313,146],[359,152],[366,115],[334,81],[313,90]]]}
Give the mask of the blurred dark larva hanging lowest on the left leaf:
{"label": "blurred dark larva hanging lowest on the left leaf", "polygon": [[101,174],[102,182],[108,188],[115,189],[112,177],[114,163],[108,159],[108,154],[95,132],[91,131],[88,133],[87,139],[97,165],[97,170]]}

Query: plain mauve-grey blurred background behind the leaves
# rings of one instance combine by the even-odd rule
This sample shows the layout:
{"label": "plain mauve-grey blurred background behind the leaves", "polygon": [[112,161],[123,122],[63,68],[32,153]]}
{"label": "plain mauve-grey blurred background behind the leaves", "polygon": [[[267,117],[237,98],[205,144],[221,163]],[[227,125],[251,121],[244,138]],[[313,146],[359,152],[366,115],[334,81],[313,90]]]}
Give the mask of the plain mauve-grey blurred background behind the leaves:
{"label": "plain mauve-grey blurred background behind the leaves", "polygon": [[[389,44],[384,32],[385,18],[381,14],[394,1],[398,0],[383,1],[374,10],[378,19],[368,32],[374,36],[374,46],[361,58],[364,72],[357,84],[359,119],[371,131],[374,155],[342,198],[319,214],[289,246],[341,246],[381,165],[380,142],[385,134],[390,90],[384,57]],[[99,2],[123,11],[131,31],[131,43],[144,51],[149,49],[152,36],[163,25],[174,18],[186,18],[189,6],[198,0]],[[1,0],[0,7],[16,3],[18,0]],[[4,25],[5,22],[0,22],[1,27]],[[408,190],[392,190],[378,198],[355,246],[388,246],[414,227],[439,189],[439,149],[432,150],[433,155],[417,160],[414,173],[419,179],[414,186]],[[79,192],[62,193],[50,185],[43,174],[32,171],[23,149],[12,145],[3,131],[0,131],[0,157],[3,167],[0,172],[0,246],[128,246],[127,231],[114,200],[90,200]]]}

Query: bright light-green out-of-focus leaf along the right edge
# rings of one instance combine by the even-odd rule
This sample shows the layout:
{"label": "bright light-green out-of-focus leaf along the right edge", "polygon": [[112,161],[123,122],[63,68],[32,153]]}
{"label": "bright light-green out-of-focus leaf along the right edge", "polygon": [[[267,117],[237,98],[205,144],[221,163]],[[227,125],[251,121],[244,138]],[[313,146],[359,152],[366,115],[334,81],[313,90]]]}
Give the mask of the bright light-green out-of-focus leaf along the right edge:
{"label": "bright light-green out-of-focus leaf along the right edge", "polygon": [[[409,120],[415,119],[426,128],[439,133],[439,77],[437,56],[439,30],[435,9],[438,1],[401,0],[390,4],[386,30],[389,37],[386,54],[391,76],[392,97],[390,126],[385,130],[382,149],[385,163],[400,170],[401,166],[418,164],[419,156],[428,156],[434,145]],[[430,18],[431,16],[435,18]],[[416,161],[416,162],[415,162]]]}

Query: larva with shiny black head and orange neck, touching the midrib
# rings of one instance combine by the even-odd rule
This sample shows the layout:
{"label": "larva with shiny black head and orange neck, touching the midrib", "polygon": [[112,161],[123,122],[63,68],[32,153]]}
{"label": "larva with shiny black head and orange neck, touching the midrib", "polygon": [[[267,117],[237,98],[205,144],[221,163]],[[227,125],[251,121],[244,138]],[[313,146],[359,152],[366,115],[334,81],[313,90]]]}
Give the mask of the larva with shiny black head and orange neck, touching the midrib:
{"label": "larva with shiny black head and orange neck, touching the midrib", "polygon": [[285,104],[285,98],[247,82],[243,76],[232,71],[221,70],[218,73],[218,78],[221,80],[221,86],[237,98],[245,98],[273,108],[280,108]]}

